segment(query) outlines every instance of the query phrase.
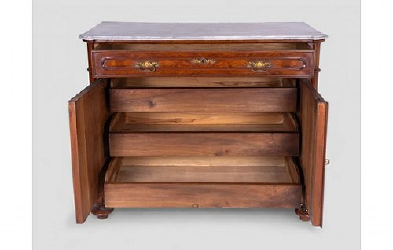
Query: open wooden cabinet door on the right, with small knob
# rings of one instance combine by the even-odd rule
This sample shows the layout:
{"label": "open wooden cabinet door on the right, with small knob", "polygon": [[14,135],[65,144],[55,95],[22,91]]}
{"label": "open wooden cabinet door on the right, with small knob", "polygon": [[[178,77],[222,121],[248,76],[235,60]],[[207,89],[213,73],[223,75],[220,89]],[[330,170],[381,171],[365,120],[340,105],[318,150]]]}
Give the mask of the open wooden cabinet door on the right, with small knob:
{"label": "open wooden cabinet door on the right, with small knob", "polygon": [[305,182],[305,204],[313,226],[322,227],[327,102],[309,80],[299,83],[301,121],[300,164]]}

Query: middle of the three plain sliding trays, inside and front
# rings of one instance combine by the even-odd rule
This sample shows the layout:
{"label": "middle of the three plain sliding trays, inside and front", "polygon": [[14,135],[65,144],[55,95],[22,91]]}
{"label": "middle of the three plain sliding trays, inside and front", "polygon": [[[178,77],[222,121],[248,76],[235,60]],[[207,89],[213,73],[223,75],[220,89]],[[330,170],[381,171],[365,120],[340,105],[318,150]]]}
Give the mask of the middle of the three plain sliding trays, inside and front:
{"label": "middle of the three plain sliding trays, inside and front", "polygon": [[298,156],[289,113],[123,113],[109,133],[111,156]]}

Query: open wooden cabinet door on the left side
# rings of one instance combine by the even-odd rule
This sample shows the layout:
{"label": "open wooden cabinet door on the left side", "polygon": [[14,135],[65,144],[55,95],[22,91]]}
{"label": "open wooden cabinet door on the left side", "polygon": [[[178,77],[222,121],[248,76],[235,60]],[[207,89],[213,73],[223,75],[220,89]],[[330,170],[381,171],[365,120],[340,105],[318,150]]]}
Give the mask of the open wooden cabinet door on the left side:
{"label": "open wooden cabinet door on the left side", "polygon": [[76,222],[83,223],[99,196],[108,158],[104,128],[109,116],[107,80],[89,85],[68,102]]}

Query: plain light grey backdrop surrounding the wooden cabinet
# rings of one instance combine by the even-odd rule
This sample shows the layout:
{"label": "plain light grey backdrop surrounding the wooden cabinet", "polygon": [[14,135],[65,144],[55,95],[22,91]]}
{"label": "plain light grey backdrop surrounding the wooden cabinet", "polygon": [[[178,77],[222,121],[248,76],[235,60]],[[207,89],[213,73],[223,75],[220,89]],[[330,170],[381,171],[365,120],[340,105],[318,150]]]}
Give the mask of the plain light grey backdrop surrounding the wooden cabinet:
{"label": "plain light grey backdrop surrounding the wooden cabinet", "polygon": [[[39,250],[359,249],[360,1],[35,1],[33,232]],[[324,228],[291,210],[131,210],[75,224],[67,101],[88,84],[86,45],[103,20],[305,21],[329,35],[320,93],[329,101]],[[22,48],[21,48],[22,49]]]}

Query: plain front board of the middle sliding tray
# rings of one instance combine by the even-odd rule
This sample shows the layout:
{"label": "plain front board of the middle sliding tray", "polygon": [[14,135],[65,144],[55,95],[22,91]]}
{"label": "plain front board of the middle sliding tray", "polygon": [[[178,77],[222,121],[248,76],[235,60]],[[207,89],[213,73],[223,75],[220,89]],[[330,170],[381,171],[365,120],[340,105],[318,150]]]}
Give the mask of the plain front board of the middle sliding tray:
{"label": "plain front board of the middle sliding tray", "polygon": [[298,133],[110,133],[111,156],[297,156]]}

